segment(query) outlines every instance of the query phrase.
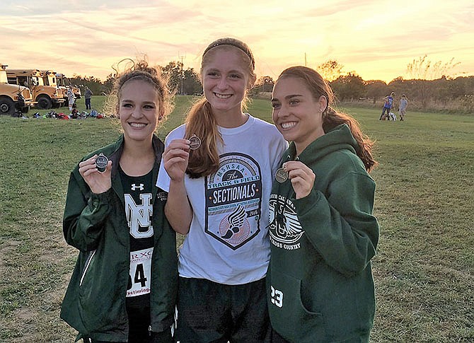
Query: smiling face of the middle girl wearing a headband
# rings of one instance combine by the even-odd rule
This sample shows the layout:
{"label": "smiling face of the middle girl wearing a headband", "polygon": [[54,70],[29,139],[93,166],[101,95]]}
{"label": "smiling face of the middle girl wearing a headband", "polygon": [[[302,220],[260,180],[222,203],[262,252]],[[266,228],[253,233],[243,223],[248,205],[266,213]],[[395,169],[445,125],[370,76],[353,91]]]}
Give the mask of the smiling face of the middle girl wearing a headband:
{"label": "smiling face of the middle girl wearing a headband", "polygon": [[215,47],[202,66],[204,96],[214,115],[241,115],[245,92],[255,79],[249,75],[243,52],[236,47]]}

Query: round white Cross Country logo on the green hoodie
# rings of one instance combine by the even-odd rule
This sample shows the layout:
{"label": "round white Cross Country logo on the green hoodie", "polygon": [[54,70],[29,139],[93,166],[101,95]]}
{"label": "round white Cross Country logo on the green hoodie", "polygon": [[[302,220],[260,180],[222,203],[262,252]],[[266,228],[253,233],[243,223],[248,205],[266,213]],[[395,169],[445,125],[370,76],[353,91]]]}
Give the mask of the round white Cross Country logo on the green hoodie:
{"label": "round white Cross Country logo on the green hoodie", "polygon": [[303,228],[293,202],[279,194],[270,195],[270,242],[278,248],[295,250],[303,236]]}

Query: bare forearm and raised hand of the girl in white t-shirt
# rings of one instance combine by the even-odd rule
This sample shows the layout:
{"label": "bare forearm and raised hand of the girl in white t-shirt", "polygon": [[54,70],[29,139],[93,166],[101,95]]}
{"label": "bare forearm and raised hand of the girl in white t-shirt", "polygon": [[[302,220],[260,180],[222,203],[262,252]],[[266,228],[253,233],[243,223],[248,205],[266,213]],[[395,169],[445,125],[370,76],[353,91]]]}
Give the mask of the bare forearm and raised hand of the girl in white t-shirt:
{"label": "bare forearm and raised hand of the girl in white t-shirt", "polygon": [[187,199],[185,187],[185,172],[189,161],[190,141],[174,139],[163,152],[163,165],[170,177],[168,200],[165,205],[165,215],[171,227],[182,235],[190,231],[192,207]]}

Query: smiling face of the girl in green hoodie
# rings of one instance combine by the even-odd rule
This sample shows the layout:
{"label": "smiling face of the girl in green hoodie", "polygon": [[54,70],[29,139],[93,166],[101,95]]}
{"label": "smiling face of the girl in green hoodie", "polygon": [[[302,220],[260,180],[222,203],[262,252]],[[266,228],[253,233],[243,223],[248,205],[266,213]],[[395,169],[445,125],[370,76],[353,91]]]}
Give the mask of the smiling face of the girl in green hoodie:
{"label": "smiling face of the girl in green hoodie", "polygon": [[301,153],[323,136],[325,96],[315,99],[302,79],[286,76],[275,83],[272,93],[272,120],[287,141],[294,141]]}

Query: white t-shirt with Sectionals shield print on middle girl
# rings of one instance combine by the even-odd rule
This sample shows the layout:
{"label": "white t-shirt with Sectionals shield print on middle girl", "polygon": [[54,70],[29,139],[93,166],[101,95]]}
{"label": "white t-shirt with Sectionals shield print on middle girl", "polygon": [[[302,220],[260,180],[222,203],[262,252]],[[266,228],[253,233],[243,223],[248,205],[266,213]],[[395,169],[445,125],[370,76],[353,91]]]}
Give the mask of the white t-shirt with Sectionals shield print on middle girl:
{"label": "white t-shirt with Sectionals shield print on middle girl", "polygon": [[[193,217],[180,248],[180,277],[219,284],[247,284],[265,277],[270,261],[268,202],[274,173],[287,149],[274,125],[248,115],[240,127],[218,127],[219,170],[205,178],[185,176]],[[165,145],[185,136],[185,125],[166,136]],[[156,185],[168,191],[161,163]]]}

